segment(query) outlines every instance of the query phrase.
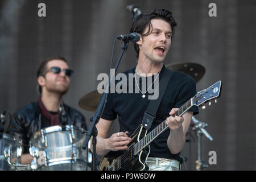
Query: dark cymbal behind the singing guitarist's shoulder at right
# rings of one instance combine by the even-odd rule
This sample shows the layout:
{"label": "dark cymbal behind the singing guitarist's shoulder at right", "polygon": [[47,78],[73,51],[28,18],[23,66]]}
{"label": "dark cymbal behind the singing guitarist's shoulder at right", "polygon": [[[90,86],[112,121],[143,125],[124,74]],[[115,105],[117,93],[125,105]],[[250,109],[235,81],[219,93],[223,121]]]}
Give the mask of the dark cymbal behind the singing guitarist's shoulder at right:
{"label": "dark cymbal behind the singing guitarist's shoulder at right", "polygon": [[171,71],[187,73],[189,76],[194,78],[196,82],[199,82],[205,73],[205,68],[197,63],[172,63],[166,65],[166,68],[170,69]]}

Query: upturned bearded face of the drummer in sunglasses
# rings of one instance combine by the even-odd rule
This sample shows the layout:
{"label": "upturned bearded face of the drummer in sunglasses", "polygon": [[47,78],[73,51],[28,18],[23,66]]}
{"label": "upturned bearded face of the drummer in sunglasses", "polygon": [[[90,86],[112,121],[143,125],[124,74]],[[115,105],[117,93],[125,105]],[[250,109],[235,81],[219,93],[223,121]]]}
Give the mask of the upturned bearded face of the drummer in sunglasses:
{"label": "upturned bearded face of the drummer in sunglasses", "polygon": [[[52,67],[61,68],[60,73],[53,73]],[[68,69],[68,64],[63,60],[51,60],[46,66],[46,75],[43,77],[42,93],[54,92],[59,94],[65,94],[68,92],[70,85],[70,78],[65,75],[63,69]],[[40,84],[40,80],[39,80]]]}

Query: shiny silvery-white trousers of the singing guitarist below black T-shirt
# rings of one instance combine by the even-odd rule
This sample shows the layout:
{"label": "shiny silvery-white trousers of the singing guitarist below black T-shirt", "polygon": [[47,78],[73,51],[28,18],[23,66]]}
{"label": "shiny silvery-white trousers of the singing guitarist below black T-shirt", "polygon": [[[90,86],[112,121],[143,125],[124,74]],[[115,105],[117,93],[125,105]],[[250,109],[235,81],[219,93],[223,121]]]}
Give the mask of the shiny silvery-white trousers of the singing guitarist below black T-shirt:
{"label": "shiny silvery-white trousers of the singing guitarist below black T-shirt", "polygon": [[147,158],[146,164],[150,171],[180,171],[181,164],[174,159]]}

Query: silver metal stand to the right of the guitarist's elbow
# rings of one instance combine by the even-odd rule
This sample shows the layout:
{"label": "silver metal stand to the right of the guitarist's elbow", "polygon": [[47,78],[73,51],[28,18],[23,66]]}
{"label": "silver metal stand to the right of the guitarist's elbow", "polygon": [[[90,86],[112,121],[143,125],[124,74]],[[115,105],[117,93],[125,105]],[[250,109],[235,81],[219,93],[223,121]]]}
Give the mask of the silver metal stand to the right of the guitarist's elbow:
{"label": "silver metal stand to the right of the guitarist's elbow", "polygon": [[195,127],[193,127],[193,130],[196,131],[197,136],[197,160],[196,160],[196,170],[201,171],[204,168],[207,168],[208,165],[205,164],[203,160],[201,160],[201,147],[202,147],[202,135],[204,134],[210,141],[213,140],[212,137],[210,137],[209,133],[204,129],[208,126],[207,123],[198,121],[195,117],[192,117],[192,121],[195,123]]}

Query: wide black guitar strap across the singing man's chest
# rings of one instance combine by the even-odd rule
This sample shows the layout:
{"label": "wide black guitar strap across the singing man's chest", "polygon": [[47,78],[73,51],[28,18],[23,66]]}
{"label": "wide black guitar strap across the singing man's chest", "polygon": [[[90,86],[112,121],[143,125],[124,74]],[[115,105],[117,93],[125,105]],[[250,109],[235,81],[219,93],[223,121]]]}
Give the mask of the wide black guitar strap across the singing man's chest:
{"label": "wide black guitar strap across the singing man's chest", "polygon": [[[167,85],[168,85],[168,82],[169,82],[171,76],[172,76],[172,72],[169,69],[164,68],[163,76],[160,78],[160,81],[159,81],[158,98],[156,100],[150,101],[150,104],[148,105],[147,110],[145,111],[144,117],[142,119],[142,126],[146,130],[150,129],[152,122],[154,121],[154,119],[156,117],[156,111],[158,110],[160,102],[162,101],[164,92],[166,91],[166,88],[167,88]],[[155,85],[155,86],[158,86],[158,85]],[[155,88],[155,86],[154,86],[154,88]]]}

